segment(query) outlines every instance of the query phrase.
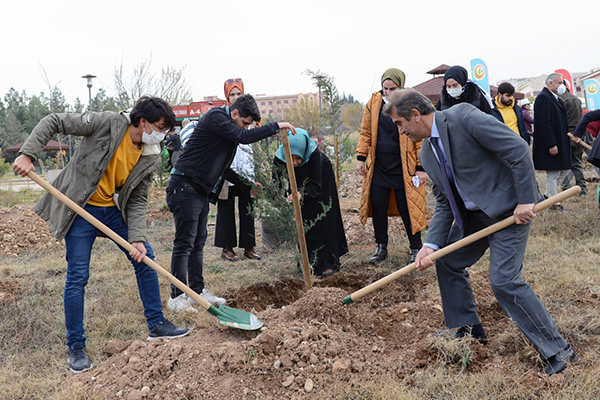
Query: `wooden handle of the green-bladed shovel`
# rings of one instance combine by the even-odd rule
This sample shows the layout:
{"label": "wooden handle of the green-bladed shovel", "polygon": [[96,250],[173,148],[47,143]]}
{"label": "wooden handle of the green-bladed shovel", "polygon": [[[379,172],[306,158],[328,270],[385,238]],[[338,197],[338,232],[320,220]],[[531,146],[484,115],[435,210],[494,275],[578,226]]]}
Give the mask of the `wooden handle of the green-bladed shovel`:
{"label": "wooden handle of the green-bladed shovel", "polygon": [[[96,218],[94,218],[93,215],[91,215],[90,213],[85,211],[73,200],[71,200],[64,194],[62,194],[58,189],[56,189],[54,186],[52,186],[51,184],[46,182],[35,172],[33,172],[33,171],[29,172],[27,174],[27,176],[29,176],[29,178],[31,178],[34,182],[36,182],[38,185],[43,187],[48,193],[50,193],[52,196],[56,197],[58,200],[60,200],[63,204],[65,204],[71,210],[75,211],[83,219],[88,221],[90,224],[94,225],[96,228],[100,229],[102,231],[102,233],[104,233],[106,236],[108,236],[110,239],[112,239],[119,246],[125,248],[128,251],[131,251],[132,249],[134,249],[134,247],[127,240],[123,239],[121,236],[117,235],[108,226],[106,226],[102,222],[98,221]],[[185,294],[190,296],[192,299],[194,299],[202,307],[204,307],[207,310],[211,307],[211,304],[208,301],[206,301],[202,296],[200,296],[198,293],[194,292],[192,289],[187,287],[183,282],[181,282],[179,279],[175,278],[171,273],[169,273],[163,267],[161,267],[156,262],[154,262],[154,260],[152,260],[150,257],[144,256],[144,259],[142,261],[144,262],[144,264],[148,265],[150,268],[155,270],[158,274],[166,277],[173,285],[175,285],[182,292],[184,292]]]}

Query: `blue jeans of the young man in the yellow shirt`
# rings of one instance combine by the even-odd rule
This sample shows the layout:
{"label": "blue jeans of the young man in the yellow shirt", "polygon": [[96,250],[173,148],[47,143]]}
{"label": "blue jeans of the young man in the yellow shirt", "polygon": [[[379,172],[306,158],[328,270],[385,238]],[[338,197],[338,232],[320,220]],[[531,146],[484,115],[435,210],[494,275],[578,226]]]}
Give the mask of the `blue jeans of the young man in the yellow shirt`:
{"label": "blue jeans of the young man in the yellow shirt", "polygon": [[[84,209],[92,216],[108,226],[116,234],[127,240],[128,228],[117,207],[97,207],[86,205]],[[65,283],[64,306],[65,325],[67,328],[67,346],[80,348],[85,346],[85,329],[83,328],[84,293],[90,276],[90,257],[92,245],[98,235],[98,228],[80,216],[75,217],[73,225],[65,236],[67,248],[67,281]],[[146,242],[146,255],[154,259],[152,247]],[[151,328],[164,320],[160,288],[156,272],[144,263],[134,261],[129,252],[119,246],[127,255],[135,269],[138,290],[144,316]]]}

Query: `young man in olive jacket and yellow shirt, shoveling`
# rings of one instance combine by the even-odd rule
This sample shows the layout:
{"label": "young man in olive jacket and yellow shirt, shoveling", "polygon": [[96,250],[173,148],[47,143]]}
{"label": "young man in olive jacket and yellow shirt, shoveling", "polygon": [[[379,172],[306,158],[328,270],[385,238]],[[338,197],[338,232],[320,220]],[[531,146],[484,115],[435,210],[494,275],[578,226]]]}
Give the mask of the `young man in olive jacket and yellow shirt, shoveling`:
{"label": "young man in olive jacket and yellow shirt, shoveling", "polygon": [[[140,98],[129,113],[50,114],[33,129],[13,165],[19,175],[26,176],[34,170],[33,162],[52,136],[63,133],[82,138],[73,158],[53,185],[132,244],[130,252],[120,249],[135,270],[150,331],[148,339],[176,338],[189,332],[164,317],[158,276],[142,262],[144,256],[154,259],[148,243],[146,211],[148,192],[158,166],[158,143],[174,126],[175,114],[171,106],[150,96]],[[34,211],[46,220],[58,240],[65,240],[67,354],[71,371],[83,372],[92,367],[85,351],[84,294],[90,274],[92,245],[99,230],[48,193],[36,204]],[[102,260],[96,262],[102,264]]]}

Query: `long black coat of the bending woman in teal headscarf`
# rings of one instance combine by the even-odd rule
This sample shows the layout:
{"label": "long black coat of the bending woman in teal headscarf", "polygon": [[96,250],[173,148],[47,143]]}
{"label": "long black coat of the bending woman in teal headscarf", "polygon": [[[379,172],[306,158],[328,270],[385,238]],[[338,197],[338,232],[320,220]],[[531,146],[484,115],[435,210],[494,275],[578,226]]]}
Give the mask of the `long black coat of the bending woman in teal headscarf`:
{"label": "long black coat of the bending woman in teal headscarf", "polygon": [[[285,163],[275,157],[276,166]],[[339,266],[339,258],[348,252],[340,202],[331,161],[316,149],[308,162],[294,168],[298,191],[302,193],[302,220],[310,225],[323,213],[323,204],[331,208],[305,232],[308,259],[316,275]]]}

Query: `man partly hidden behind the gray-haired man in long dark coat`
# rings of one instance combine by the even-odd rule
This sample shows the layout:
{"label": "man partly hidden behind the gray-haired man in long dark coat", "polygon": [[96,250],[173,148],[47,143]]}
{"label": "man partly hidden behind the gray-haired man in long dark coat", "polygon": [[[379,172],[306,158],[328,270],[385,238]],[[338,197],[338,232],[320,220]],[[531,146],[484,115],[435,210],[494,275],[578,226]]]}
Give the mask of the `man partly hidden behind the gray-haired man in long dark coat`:
{"label": "man partly hidden behind the gray-haired man in long dark coat", "polygon": [[[567,88],[567,91],[559,97],[565,103],[569,132],[573,133],[583,114],[581,100],[579,100],[579,97],[569,92],[569,88]],[[585,184],[585,178],[583,176],[583,147],[580,144],[571,141],[571,171],[567,173],[567,176],[560,184],[562,190],[567,190],[571,187],[571,179],[573,176],[575,176],[575,184],[581,188],[581,193],[579,193],[579,195],[586,195],[587,185]]]}

